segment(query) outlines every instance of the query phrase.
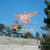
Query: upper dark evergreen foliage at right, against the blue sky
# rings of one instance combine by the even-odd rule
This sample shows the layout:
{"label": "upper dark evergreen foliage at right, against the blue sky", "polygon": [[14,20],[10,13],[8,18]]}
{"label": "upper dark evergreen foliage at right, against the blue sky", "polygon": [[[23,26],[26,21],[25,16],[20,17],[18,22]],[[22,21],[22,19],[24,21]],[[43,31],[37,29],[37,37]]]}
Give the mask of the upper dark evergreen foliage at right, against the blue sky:
{"label": "upper dark evergreen foliage at right, against the blue sky", "polygon": [[45,14],[47,15],[47,19],[44,18],[44,23],[46,23],[46,27],[50,28],[50,1],[45,0],[47,8],[44,9]]}

